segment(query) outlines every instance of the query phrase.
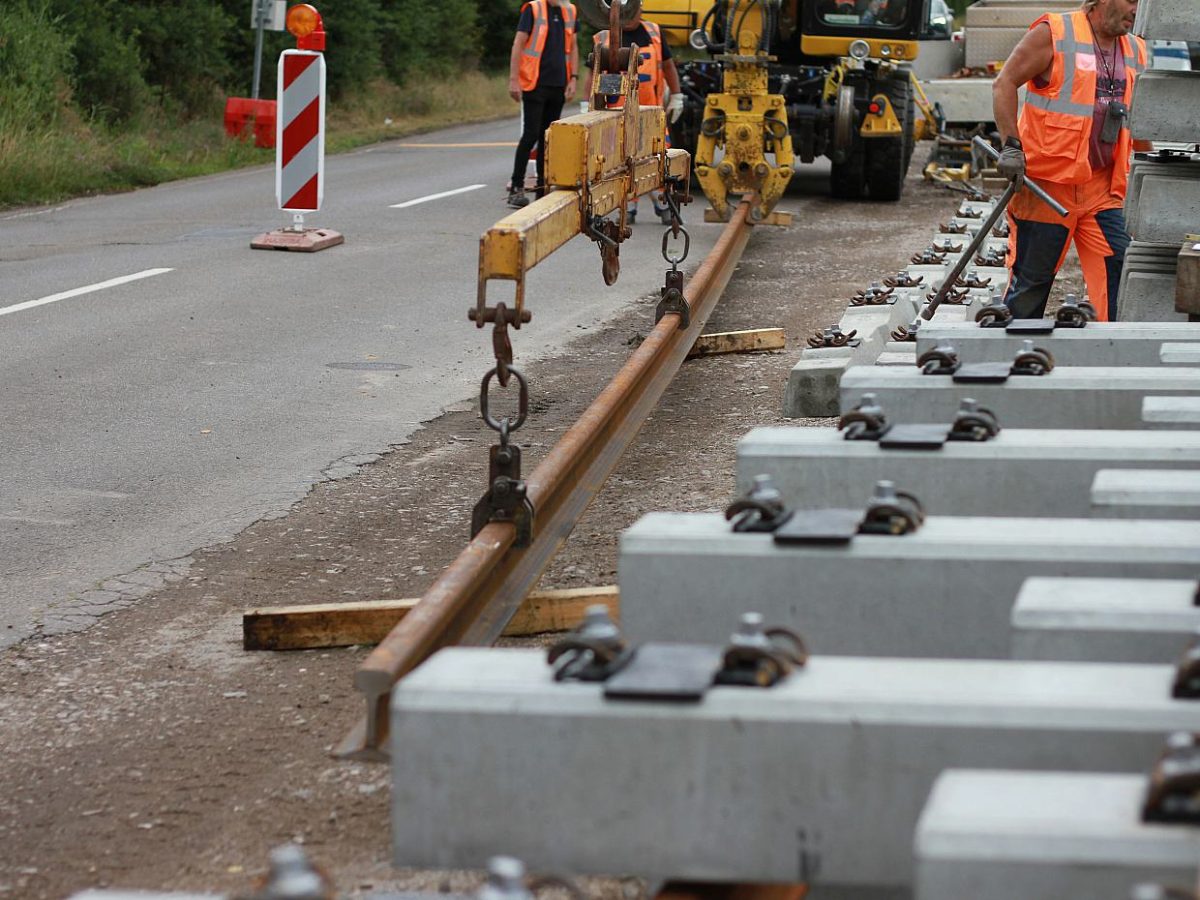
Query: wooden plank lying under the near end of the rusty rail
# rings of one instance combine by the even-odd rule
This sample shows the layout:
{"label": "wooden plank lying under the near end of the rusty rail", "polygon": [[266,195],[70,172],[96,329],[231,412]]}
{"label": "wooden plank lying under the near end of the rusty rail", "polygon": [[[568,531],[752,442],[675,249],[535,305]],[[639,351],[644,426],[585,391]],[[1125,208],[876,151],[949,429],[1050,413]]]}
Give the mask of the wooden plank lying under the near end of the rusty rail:
{"label": "wooden plank lying under the near end of the rusty rail", "polygon": [[[314,650],[378,643],[418,602],[367,600],[251,610],[241,617],[242,649]],[[569,631],[594,604],[604,604],[613,619],[619,618],[617,586],[534,592],[517,610],[504,635],[528,637],[544,631]]]}

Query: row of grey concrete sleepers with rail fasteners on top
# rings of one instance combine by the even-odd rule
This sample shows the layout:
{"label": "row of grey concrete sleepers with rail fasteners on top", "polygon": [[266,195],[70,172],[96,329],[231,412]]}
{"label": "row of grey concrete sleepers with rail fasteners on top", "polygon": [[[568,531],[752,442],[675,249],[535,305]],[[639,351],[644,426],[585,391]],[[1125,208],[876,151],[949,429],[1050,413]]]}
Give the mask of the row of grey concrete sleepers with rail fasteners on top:
{"label": "row of grey concrete sleepers with rail fasteners on top", "polygon": [[398,865],[1194,888],[1200,323],[983,328],[984,256],[910,340],[989,203],[810,341],[786,412],[841,428],[756,428],[730,517],[624,534],[619,637],[595,612],[553,665],[454,648],[397,685]]}

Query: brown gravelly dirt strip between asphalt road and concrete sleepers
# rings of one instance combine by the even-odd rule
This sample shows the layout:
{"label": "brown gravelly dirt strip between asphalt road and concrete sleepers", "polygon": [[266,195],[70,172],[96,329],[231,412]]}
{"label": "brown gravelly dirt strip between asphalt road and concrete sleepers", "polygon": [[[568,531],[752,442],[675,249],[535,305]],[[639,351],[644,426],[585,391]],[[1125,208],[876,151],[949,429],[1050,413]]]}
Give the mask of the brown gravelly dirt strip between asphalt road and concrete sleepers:
{"label": "brown gravelly dirt strip between asphalt road and concrete sleepers", "polygon": [[[918,179],[900,204],[830,200],[820,182],[793,191],[782,208],[794,224],[755,230],[707,329],[782,326],[787,349],[686,362],[542,587],[613,583],[617,538],[647,511],[722,509],[738,438],[784,421],[804,340],[928,246],[956,204]],[[656,226],[636,229],[658,240]],[[527,470],[649,330],[654,302],[526,368]],[[466,541],[491,438],[467,400],[289,515],[181,560],[172,583],[131,608],[0,655],[0,896],[241,892],[287,841],[304,844],[342,894],[474,884],[473,874],[394,869],[386,768],[329,755],[362,713],[352,676],[367,649],[245,653],[241,613],[419,596]],[[618,895],[641,889],[618,884]]]}

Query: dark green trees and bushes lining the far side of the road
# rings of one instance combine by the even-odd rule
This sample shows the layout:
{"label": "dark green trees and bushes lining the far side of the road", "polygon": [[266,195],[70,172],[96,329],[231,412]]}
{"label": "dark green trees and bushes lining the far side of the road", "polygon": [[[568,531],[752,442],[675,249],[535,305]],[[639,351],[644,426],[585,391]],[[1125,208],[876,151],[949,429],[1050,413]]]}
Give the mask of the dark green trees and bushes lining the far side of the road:
{"label": "dark green trees and bushes lining the far side of the road", "polygon": [[[313,0],[335,98],[386,77],[504,68],[521,0]],[[0,0],[0,97],[53,118],[73,104],[119,124],[150,110],[211,115],[250,96],[251,0]],[[288,34],[264,35],[262,95]],[[11,118],[11,115],[10,115]]]}

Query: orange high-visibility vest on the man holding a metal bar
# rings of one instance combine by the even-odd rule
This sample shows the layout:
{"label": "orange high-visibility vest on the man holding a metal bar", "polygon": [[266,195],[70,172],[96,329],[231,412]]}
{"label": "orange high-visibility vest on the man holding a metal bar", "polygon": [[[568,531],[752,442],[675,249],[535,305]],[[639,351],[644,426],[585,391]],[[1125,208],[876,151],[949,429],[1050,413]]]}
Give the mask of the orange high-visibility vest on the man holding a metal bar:
{"label": "orange high-visibility vest on the man holding a metal bar", "polygon": [[[1025,148],[1025,170],[1030,178],[1061,185],[1081,185],[1092,176],[1087,160],[1087,142],[1092,134],[1092,112],[1096,108],[1096,47],[1087,14],[1046,13],[1032,25],[1050,25],[1054,40],[1054,62],[1050,82],[1039,88],[1027,85],[1025,107],[1018,130]],[[1122,35],[1121,54],[1124,56],[1124,103],[1133,98],[1134,79],[1146,68],[1146,42],[1140,37]],[[1112,154],[1112,186],[1123,197],[1129,179],[1129,154],[1133,140],[1128,122],[1122,125]]]}

